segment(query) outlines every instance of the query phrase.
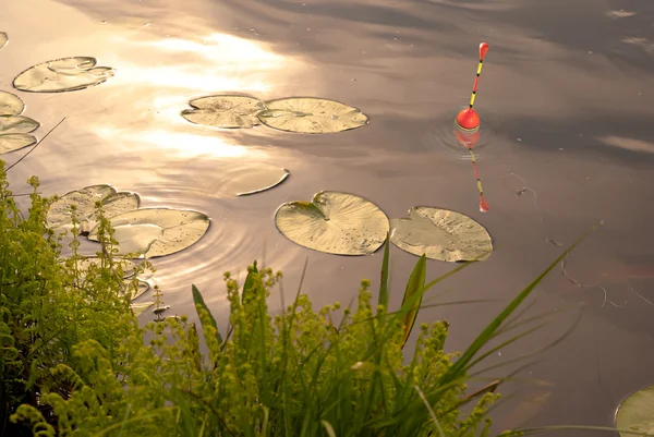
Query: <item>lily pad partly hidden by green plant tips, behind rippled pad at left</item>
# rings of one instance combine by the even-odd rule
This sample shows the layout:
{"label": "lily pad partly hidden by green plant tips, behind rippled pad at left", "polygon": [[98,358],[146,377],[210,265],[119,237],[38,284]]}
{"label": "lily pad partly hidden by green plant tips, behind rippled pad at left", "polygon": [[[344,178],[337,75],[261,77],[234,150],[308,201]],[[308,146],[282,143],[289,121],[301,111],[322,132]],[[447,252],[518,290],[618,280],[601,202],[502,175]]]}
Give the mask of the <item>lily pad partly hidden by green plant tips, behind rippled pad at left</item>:
{"label": "lily pad partly hidden by green plant tips, behind rippled pad at left", "polygon": [[76,207],[80,233],[86,233],[96,226],[95,204],[100,202],[105,216],[111,218],[138,208],[141,198],[136,193],[117,192],[110,185],[90,185],[64,194],[50,205],[46,222],[51,229],[70,230],[73,227],[71,206]]}

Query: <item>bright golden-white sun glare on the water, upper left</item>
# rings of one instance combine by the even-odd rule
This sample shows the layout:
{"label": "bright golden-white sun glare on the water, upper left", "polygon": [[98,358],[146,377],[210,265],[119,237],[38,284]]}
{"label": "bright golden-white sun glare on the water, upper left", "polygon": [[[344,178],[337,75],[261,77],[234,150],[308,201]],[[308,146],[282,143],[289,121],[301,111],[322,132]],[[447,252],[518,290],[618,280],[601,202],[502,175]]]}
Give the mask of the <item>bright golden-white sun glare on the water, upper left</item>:
{"label": "bright golden-white sun glare on the water, upper left", "polygon": [[[179,159],[198,155],[217,158],[264,157],[261,148],[235,144],[223,131],[185,121],[180,112],[190,99],[213,94],[250,94],[259,97],[276,87],[302,62],[277,54],[264,45],[226,34],[196,39],[167,38],[134,43],[129,35],[114,36],[116,45],[129,45],[117,59],[110,106],[124,105],[129,113],[98,121],[93,131],[102,139],[137,147],[148,160],[166,150]],[[114,100],[114,101],[111,101]]]}

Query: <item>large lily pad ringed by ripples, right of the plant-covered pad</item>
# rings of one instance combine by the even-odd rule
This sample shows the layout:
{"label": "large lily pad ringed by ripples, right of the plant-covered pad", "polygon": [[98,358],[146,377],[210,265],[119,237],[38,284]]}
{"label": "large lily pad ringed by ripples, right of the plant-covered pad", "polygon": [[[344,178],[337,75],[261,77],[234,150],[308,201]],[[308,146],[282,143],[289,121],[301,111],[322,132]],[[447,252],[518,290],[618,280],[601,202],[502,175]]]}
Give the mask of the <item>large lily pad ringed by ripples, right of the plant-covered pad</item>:
{"label": "large lily pad ringed by ripples, right of the plant-covered pad", "polygon": [[[143,208],[111,218],[118,241],[118,254],[140,253],[146,258],[180,252],[204,236],[209,218],[197,211],[169,208]],[[97,241],[97,227],[88,234]]]}

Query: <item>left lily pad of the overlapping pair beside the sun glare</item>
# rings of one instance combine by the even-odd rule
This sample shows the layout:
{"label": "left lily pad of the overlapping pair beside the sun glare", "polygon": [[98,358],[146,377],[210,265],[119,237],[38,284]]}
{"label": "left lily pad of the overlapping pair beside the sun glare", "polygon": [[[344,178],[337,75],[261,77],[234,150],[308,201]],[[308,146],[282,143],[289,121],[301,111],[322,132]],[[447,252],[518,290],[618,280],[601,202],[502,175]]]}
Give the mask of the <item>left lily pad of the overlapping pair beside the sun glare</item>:
{"label": "left lily pad of the overlapping pair beside the sun glare", "polygon": [[240,129],[259,124],[257,113],[264,102],[254,97],[219,95],[201,97],[189,102],[195,109],[182,111],[191,123],[211,128]]}

